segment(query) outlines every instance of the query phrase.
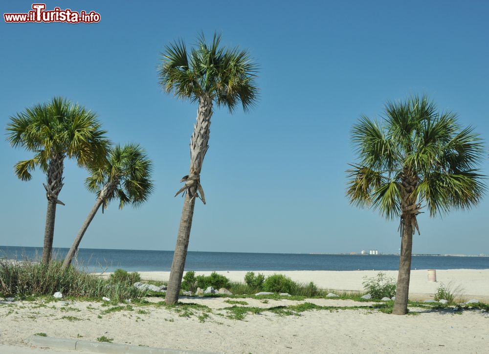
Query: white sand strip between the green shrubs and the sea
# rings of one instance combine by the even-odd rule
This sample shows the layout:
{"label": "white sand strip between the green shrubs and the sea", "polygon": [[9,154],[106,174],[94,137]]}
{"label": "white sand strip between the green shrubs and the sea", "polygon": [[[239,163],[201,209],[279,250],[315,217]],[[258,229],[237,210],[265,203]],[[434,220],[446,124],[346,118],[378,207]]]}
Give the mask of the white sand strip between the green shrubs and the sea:
{"label": "white sand strip between the green shrubs and the sea", "polygon": [[[488,261],[489,262],[489,261]],[[314,282],[319,288],[336,290],[363,290],[363,277],[375,277],[378,270],[294,270],[294,271],[255,271],[265,275],[280,273],[301,283]],[[397,270],[383,270],[387,276],[397,280]],[[196,272],[197,275],[209,275],[211,272]],[[246,271],[218,271],[230,280],[243,282]],[[140,272],[145,280],[167,281],[170,272]],[[412,270],[409,295],[412,300],[424,300],[433,296],[440,283],[460,287],[461,295],[467,299],[489,302],[489,269],[448,269],[437,270],[437,282],[428,282],[428,271]]]}

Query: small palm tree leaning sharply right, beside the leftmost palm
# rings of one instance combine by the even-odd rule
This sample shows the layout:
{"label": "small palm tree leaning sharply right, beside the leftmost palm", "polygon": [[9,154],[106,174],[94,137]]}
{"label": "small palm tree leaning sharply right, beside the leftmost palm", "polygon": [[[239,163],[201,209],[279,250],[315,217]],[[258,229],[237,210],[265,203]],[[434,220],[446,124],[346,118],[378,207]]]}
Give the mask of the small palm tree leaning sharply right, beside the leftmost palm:
{"label": "small palm tree leaning sharply right, beside the leftmost palm", "polygon": [[71,264],[83,235],[101,205],[103,213],[113,199],[119,200],[119,209],[126,204],[139,206],[148,200],[153,192],[152,169],[151,160],[135,144],[117,145],[109,150],[104,166],[89,166],[90,176],[85,185],[89,191],[97,193],[97,199],[66,255],[64,268]]}

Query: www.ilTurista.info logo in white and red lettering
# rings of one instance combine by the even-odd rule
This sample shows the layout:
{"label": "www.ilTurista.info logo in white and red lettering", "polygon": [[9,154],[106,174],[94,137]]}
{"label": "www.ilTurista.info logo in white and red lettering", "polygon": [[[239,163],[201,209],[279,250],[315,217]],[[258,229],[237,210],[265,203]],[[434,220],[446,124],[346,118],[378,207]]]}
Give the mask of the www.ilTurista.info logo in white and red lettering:
{"label": "www.ilTurista.info logo in white and red lettering", "polygon": [[95,11],[71,11],[55,7],[46,11],[46,4],[32,4],[32,11],[27,13],[3,14],[7,23],[15,22],[66,22],[66,23],[96,23],[100,21],[100,14]]}

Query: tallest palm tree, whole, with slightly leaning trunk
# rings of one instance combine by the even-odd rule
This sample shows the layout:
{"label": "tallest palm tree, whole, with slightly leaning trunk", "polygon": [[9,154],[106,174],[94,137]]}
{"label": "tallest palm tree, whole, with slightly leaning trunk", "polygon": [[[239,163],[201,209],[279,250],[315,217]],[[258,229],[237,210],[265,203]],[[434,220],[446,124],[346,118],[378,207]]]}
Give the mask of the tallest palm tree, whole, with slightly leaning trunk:
{"label": "tallest palm tree, whole, with slightly leaning trunk", "polygon": [[159,66],[159,84],[167,93],[183,100],[198,102],[197,123],[190,140],[190,172],[180,182],[185,185],[177,192],[185,194],[177,245],[173,257],[165,302],[178,301],[196,198],[205,204],[200,185],[200,170],[207,152],[212,107],[226,107],[233,112],[241,103],[248,111],[256,102],[255,78],[257,66],[246,50],[220,47],[221,35],[214,34],[211,44],[200,35],[197,46],[190,52],[183,41],[165,47]]}

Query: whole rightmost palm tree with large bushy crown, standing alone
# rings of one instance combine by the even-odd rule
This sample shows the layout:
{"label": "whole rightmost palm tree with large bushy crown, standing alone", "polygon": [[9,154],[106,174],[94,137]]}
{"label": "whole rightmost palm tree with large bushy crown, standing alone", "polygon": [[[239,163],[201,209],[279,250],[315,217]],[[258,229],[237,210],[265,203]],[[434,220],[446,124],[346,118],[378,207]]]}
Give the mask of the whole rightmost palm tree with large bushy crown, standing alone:
{"label": "whole rightmost palm tree with large bushy crown, standing alone", "polygon": [[348,170],[347,196],[387,219],[400,218],[401,250],[394,314],[407,313],[411,251],[417,216],[477,204],[486,186],[477,165],[483,142],[462,129],[455,113],[438,111],[426,96],[389,102],[382,123],[362,116],[352,128],[358,162]]}

